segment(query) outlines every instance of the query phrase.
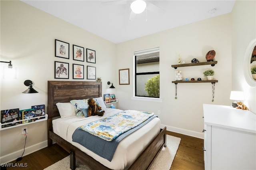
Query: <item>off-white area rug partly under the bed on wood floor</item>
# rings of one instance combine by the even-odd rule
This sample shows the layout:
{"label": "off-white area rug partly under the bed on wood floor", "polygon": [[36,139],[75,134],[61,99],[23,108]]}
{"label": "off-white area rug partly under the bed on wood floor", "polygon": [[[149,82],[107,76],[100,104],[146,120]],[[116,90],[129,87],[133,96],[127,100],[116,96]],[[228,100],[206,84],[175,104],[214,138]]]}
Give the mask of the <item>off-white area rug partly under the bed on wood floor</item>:
{"label": "off-white area rug partly under the bed on wood floor", "polygon": [[[150,170],[170,170],[178,147],[180,145],[180,138],[167,135],[167,145],[162,148],[162,151],[158,154],[154,164],[151,166]],[[66,158],[48,166],[44,170],[70,170],[70,158]],[[76,161],[76,170],[90,170],[85,165]]]}

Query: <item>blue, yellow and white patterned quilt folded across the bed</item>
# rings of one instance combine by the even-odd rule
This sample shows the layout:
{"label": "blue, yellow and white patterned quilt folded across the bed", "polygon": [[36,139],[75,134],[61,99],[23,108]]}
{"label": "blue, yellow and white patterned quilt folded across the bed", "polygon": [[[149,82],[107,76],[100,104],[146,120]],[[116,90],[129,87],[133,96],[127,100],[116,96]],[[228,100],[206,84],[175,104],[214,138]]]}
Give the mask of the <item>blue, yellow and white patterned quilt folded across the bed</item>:
{"label": "blue, yellow and white patterned quilt folded across the bed", "polygon": [[153,115],[154,113],[152,112],[126,110],[116,115],[82,125],[79,128],[104,140],[111,141],[124,132],[137,127]]}

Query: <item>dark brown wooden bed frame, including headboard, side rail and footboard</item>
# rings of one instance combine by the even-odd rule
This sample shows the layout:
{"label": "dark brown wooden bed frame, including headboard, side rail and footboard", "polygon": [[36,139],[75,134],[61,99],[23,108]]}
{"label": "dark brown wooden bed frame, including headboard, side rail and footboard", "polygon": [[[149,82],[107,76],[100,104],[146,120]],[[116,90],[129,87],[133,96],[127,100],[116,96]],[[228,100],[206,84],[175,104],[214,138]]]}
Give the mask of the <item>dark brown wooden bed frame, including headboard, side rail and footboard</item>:
{"label": "dark brown wooden bed frame, including headboard, side rail and footboard", "polygon": [[[97,81],[48,81],[48,146],[55,141],[58,145],[70,152],[70,168],[76,168],[76,159],[88,166],[92,170],[110,170],[100,162],[94,160],[91,156],[85,154],[57,134],[53,132],[52,120],[59,117],[56,103],[70,102],[73,99],[88,99],[102,97],[102,82]],[[161,129],[160,133],[140,154],[140,156],[129,167],[129,170],[149,169],[160,151],[166,146],[166,127]]]}

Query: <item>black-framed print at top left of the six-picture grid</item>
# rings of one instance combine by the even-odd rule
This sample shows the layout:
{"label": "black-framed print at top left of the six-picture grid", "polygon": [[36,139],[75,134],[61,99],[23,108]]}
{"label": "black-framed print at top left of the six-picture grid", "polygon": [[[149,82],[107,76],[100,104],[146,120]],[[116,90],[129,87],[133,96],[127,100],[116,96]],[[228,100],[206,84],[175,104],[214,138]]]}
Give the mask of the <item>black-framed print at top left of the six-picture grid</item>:
{"label": "black-framed print at top left of the six-picture grid", "polygon": [[55,39],[55,57],[69,59],[69,43]]}

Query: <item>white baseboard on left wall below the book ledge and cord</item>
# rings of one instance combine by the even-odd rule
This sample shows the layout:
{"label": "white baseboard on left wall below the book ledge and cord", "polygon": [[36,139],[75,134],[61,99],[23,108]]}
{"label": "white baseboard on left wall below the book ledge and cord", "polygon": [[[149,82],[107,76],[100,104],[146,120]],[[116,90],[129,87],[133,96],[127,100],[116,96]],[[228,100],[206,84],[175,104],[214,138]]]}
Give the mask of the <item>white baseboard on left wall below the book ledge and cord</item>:
{"label": "white baseboard on left wall below the book ledge and cord", "polygon": [[[26,156],[26,155],[31,154],[33,152],[36,152],[36,151],[38,151],[42,148],[46,148],[47,146],[48,146],[48,143],[47,143],[47,140],[45,140],[43,142],[34,144],[32,146],[25,147],[25,152],[24,152],[23,156]],[[1,156],[0,157],[1,164],[2,163],[9,163],[9,162],[12,162],[12,161],[16,160],[17,158],[19,158],[22,155],[23,151],[24,151],[24,148],[21,149],[21,150],[17,150],[16,152],[12,152],[10,154]]]}

